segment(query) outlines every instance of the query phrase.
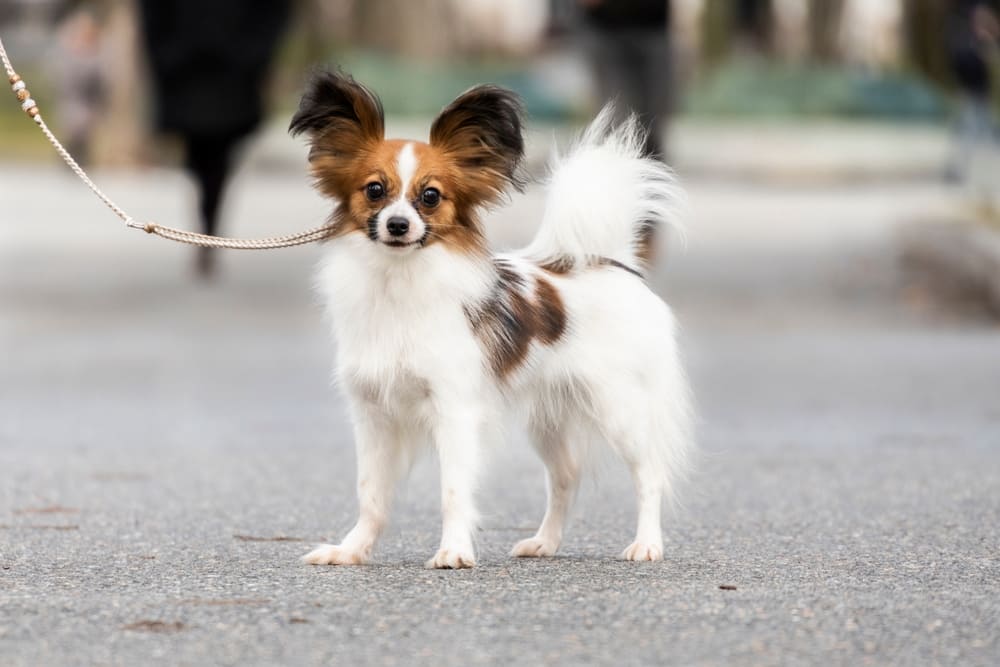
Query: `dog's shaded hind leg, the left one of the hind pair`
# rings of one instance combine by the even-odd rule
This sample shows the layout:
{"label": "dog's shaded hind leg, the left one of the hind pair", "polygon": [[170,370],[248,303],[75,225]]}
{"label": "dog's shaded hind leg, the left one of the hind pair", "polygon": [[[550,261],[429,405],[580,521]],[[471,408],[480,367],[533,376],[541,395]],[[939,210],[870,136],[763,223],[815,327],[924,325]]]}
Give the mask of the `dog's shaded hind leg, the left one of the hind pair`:
{"label": "dog's shaded hind leg, the left one of the hind pair", "polygon": [[535,449],[545,463],[548,505],[538,532],[534,537],[515,544],[511,555],[552,556],[562,542],[566,515],[573,504],[580,481],[580,465],[570,447],[565,422],[558,427],[534,423],[530,430]]}

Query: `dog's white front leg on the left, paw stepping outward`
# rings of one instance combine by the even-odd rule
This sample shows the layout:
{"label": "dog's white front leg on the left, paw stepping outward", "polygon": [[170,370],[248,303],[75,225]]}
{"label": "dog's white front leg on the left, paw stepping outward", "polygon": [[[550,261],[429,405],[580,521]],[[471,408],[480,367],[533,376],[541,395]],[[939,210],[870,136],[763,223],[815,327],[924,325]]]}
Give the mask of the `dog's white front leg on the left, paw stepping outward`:
{"label": "dog's white front leg on the left, paw stepping outward", "polygon": [[377,410],[353,410],[358,457],[358,521],[340,544],[324,544],[303,557],[313,565],[362,565],[371,559],[382,533],[402,467],[400,439]]}

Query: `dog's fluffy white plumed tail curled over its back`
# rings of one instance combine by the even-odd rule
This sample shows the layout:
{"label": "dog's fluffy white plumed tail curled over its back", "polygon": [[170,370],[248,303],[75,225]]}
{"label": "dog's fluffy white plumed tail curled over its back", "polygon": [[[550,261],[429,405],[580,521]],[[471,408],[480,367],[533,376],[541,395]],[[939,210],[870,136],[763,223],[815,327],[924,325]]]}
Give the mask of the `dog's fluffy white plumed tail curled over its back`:
{"label": "dog's fluffy white plumed tail curled over its back", "polygon": [[608,104],[569,153],[554,158],[542,225],[526,249],[539,263],[611,259],[641,269],[661,227],[683,236],[687,204],[673,171],[643,154],[646,131],[634,115],[617,126],[614,118]]}

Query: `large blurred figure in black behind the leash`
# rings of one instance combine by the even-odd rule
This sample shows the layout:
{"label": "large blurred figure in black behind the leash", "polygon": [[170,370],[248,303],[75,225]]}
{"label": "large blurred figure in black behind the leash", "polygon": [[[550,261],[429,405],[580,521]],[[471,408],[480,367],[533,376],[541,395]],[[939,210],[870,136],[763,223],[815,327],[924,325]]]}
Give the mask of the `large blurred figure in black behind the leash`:
{"label": "large blurred figure in black behind the leash", "polygon": [[[214,235],[236,148],[263,116],[263,82],[289,3],[140,0],[139,8],[157,129],[180,137],[201,229]],[[198,249],[196,268],[203,278],[214,273],[211,249]]]}

